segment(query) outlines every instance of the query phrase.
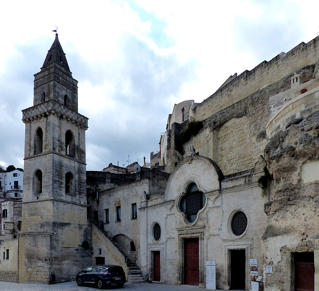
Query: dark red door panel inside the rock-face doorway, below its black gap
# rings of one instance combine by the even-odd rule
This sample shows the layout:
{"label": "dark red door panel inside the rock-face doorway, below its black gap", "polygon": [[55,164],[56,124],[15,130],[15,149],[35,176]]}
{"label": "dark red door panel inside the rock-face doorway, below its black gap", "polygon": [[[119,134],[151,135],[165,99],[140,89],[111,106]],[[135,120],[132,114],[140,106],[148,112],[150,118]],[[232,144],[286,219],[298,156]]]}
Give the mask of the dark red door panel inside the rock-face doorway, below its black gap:
{"label": "dark red door panel inside the rock-face doorway, below its black gap", "polygon": [[314,291],[315,290],[315,264],[295,263],[295,290]]}

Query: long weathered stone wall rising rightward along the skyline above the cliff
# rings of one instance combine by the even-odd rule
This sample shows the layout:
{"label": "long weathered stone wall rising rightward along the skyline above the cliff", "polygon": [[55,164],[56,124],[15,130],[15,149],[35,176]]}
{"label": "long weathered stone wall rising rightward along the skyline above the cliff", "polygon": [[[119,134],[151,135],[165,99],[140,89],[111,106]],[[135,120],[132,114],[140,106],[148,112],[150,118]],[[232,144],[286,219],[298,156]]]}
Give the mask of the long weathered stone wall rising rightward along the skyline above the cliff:
{"label": "long weathered stone wall rising rightward along the skyline above the cliff", "polygon": [[319,36],[308,43],[300,43],[287,53],[281,52],[270,61],[263,61],[251,71],[244,71],[218,89],[194,108],[195,120],[205,120],[216,112],[234,104],[299,68],[315,64],[319,59]]}

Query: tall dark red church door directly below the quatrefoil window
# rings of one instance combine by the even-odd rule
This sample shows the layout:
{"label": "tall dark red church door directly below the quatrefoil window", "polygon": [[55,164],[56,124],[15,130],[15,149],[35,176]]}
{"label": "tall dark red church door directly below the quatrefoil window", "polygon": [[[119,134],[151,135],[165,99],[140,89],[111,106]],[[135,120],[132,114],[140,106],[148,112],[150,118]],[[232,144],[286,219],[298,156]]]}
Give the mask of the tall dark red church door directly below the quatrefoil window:
{"label": "tall dark red church door directly below the quatrefoil window", "polygon": [[199,285],[198,238],[184,240],[184,284]]}

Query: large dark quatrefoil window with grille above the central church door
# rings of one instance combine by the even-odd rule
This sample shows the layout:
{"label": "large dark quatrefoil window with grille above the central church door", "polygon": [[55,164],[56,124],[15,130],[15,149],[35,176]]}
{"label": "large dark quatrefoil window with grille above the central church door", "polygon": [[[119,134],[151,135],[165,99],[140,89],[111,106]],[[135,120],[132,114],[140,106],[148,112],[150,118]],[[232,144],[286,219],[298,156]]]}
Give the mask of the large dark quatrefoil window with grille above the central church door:
{"label": "large dark quatrefoil window with grille above the central church door", "polygon": [[197,218],[197,213],[206,203],[206,196],[198,190],[195,183],[187,187],[186,194],[181,198],[179,208],[185,213],[188,222],[193,223]]}

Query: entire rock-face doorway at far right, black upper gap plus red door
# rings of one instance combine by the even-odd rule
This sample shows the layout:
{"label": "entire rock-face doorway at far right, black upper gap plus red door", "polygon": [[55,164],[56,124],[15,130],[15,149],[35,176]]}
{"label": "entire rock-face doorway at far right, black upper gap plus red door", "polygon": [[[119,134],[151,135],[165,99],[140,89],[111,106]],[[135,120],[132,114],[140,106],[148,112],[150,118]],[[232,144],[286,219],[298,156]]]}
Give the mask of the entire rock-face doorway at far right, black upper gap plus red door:
{"label": "entire rock-face doorway at far right, black upper gap plus red door", "polygon": [[314,253],[294,253],[295,291],[315,290]]}

